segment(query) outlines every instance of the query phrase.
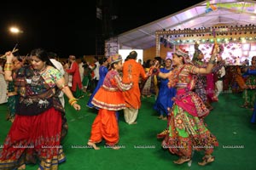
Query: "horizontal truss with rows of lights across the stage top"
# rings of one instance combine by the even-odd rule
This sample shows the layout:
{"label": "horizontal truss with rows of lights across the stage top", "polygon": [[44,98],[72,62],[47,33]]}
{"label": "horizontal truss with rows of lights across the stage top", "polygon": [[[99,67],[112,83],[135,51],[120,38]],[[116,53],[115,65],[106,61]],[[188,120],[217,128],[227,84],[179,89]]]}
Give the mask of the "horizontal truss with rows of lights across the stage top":
{"label": "horizontal truss with rows of lights across the stage top", "polygon": [[[246,26],[212,26],[212,27],[204,27],[201,26],[199,28],[184,28],[181,30],[178,29],[163,29],[163,31],[156,31],[156,34],[160,36],[166,36],[166,38],[173,39],[172,43],[193,43],[195,41],[199,42],[214,42],[212,37],[212,32],[215,31],[215,34],[218,37],[218,42],[249,42],[256,40],[256,26],[254,25],[246,25]],[[248,34],[247,34],[248,32]],[[249,37],[248,37],[249,35]],[[180,37],[182,39],[180,39]],[[197,39],[190,39],[189,37],[196,37]],[[253,38],[254,37],[254,38]],[[177,40],[177,38],[179,38]]]}

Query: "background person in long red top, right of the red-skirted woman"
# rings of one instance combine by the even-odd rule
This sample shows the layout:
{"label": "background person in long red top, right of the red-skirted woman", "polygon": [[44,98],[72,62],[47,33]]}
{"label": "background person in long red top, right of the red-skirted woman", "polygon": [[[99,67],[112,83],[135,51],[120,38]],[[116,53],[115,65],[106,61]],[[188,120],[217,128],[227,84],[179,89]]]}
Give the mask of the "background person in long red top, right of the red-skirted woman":
{"label": "background person in long red top, right of the red-skirted woman", "polygon": [[69,55],[69,61],[71,62],[70,69],[67,69],[67,73],[73,75],[73,80],[72,80],[72,92],[75,98],[81,98],[83,96],[83,91],[82,91],[82,82],[80,78],[80,73],[79,73],[79,65],[76,62],[76,57],[74,55]]}

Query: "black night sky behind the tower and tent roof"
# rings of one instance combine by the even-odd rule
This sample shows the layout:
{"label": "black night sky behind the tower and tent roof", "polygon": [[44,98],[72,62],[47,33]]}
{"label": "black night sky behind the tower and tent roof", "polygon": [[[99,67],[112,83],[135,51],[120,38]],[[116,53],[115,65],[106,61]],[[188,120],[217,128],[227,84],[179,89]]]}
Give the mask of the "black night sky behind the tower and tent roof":
{"label": "black night sky behind the tower and tent roof", "polygon": [[[33,48],[45,48],[66,58],[96,54],[96,1],[1,1],[0,54],[19,43],[19,53],[29,54]],[[202,1],[188,0],[103,0],[112,1],[112,33],[129,31],[173,14]],[[85,4],[83,4],[85,3]],[[124,5],[125,3],[125,5]],[[10,26],[19,26],[23,33],[11,34]]]}

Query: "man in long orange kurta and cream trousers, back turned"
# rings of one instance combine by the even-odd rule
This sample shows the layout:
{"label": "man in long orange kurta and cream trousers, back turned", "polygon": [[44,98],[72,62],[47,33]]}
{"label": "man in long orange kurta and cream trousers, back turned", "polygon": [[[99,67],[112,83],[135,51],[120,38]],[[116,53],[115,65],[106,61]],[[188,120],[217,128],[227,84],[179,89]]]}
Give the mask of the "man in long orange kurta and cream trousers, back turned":
{"label": "man in long orange kurta and cream trousers, back turned", "polygon": [[146,79],[143,65],[137,63],[137,52],[131,51],[129,59],[123,66],[123,82],[133,82],[130,90],[124,92],[126,108],[124,110],[125,122],[136,124],[138,110],[141,107],[141,93],[139,88],[139,77]]}

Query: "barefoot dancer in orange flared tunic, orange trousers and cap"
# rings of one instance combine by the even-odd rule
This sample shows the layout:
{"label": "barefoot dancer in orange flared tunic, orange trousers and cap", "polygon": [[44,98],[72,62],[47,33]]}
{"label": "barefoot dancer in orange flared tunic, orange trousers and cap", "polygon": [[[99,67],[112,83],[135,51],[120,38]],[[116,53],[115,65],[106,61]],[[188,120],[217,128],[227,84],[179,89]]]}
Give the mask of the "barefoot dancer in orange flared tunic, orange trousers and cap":
{"label": "barefoot dancer in orange flared tunic, orange trousers and cap", "polygon": [[116,111],[125,109],[125,99],[122,91],[129,90],[132,83],[125,84],[119,77],[122,69],[122,58],[120,55],[113,55],[109,58],[111,71],[108,71],[102,87],[92,99],[92,104],[100,108],[96,119],[91,126],[88,145],[99,150],[96,143],[106,140],[106,144],[113,149],[119,149],[116,144],[119,142],[119,127]]}

